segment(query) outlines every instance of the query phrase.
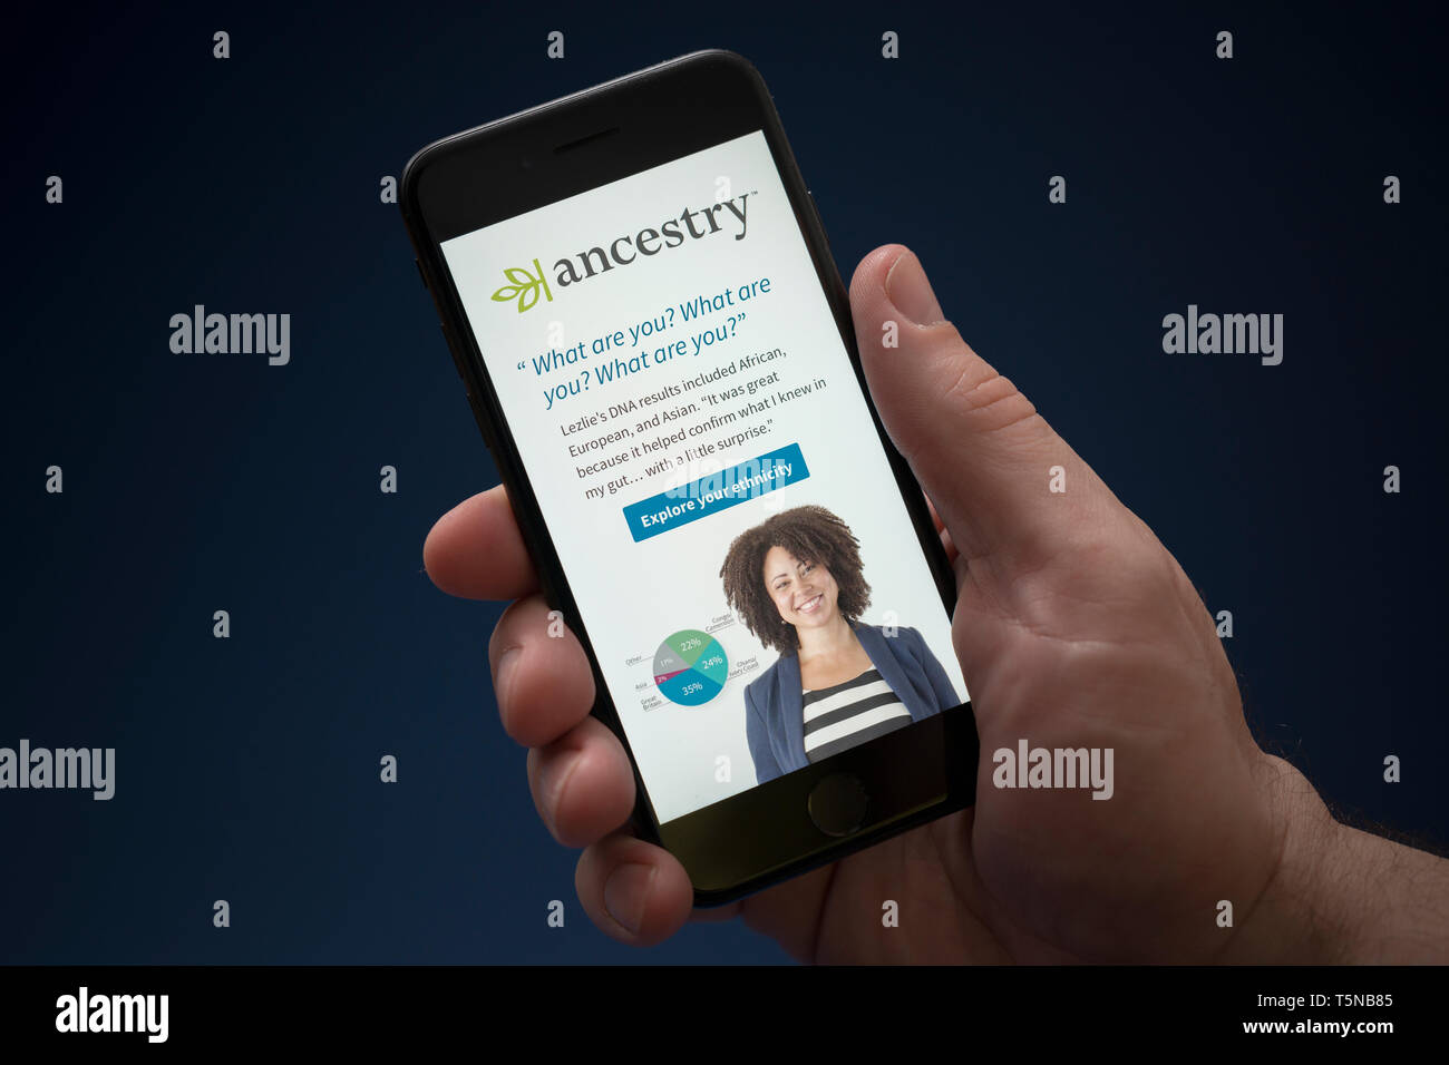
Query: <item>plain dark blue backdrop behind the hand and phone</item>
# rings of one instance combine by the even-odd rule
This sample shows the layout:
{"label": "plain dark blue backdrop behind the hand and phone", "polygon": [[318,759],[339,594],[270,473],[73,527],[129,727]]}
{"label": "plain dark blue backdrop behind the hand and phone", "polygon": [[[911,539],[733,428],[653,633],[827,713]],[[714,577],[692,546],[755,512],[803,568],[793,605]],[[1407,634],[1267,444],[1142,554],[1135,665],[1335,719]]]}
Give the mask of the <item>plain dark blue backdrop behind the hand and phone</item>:
{"label": "plain dark blue backdrop behind the hand and phone", "polygon": [[[636,952],[580,910],[497,722],[500,606],[423,574],[497,475],[378,201],[426,142],[706,46],[769,83],[842,272],[913,246],[1233,611],[1259,735],[1442,836],[1443,38],[1413,6],[1075,7],[12,13],[0,745],[114,746],[117,790],[0,794],[0,961],[784,959],[739,924]],[[174,355],[197,303],[291,313],[291,364]],[[1285,314],[1282,365],[1164,355],[1188,303]]]}

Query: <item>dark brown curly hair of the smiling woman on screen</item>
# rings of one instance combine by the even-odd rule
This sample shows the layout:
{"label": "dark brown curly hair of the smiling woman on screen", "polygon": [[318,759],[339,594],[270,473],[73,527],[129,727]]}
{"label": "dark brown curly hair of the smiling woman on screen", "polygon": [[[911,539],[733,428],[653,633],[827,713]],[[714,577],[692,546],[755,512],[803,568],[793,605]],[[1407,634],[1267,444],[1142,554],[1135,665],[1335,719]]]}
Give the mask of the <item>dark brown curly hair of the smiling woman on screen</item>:
{"label": "dark brown curly hair of the smiling woman on screen", "polygon": [[851,526],[824,507],[782,510],[736,536],[720,567],[724,598],[767,648],[781,655],[800,649],[796,626],[780,616],[765,587],[765,555],[771,548],[784,548],[801,562],[829,569],[840,588],[840,614],[852,625],[871,604],[871,585],[861,572],[861,543]]}

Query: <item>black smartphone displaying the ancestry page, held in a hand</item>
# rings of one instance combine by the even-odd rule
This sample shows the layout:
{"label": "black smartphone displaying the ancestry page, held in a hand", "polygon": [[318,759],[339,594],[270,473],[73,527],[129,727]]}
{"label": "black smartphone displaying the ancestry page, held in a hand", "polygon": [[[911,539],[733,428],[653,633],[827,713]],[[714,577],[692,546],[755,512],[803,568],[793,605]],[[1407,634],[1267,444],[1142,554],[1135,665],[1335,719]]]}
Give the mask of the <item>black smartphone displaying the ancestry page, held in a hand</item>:
{"label": "black smartphone displaying the ancestry page, held in a hand", "polygon": [[400,206],[696,904],[969,806],[951,567],[759,72],[694,52],[458,133]]}

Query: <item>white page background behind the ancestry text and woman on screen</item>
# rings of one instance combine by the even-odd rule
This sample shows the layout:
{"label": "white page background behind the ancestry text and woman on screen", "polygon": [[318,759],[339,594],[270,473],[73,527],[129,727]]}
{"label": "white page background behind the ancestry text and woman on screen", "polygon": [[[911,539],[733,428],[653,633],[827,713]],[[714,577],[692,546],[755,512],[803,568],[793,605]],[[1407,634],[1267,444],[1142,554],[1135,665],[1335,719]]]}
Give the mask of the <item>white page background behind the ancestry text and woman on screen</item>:
{"label": "white page background behind the ancestry text and woman on screen", "polygon": [[[726,194],[717,194],[720,178],[729,181]],[[636,255],[626,267],[597,272],[568,287],[555,281],[554,262],[558,259],[572,258],[577,264],[582,251],[607,249],[619,236],[632,238],[645,227],[658,230],[662,222],[678,219],[685,209],[700,210],[717,199],[742,193],[751,193],[745,239],[733,239],[739,232],[738,220],[723,209],[719,233],[690,239],[680,223],[685,238],[677,248],[664,248],[661,239],[661,251],[653,256]],[[478,194],[485,196],[487,190]],[[703,219],[696,216],[696,223],[703,225]],[[653,652],[659,643],[680,629],[707,629],[711,617],[729,611],[719,571],[730,540],[778,510],[819,504],[851,526],[861,542],[865,580],[872,593],[862,622],[882,625],[890,620],[890,611],[897,625],[919,629],[965,701],[966,687],[951,646],[949,619],[898,501],[898,488],[762,132],[449,239],[442,248],[659,822],[755,784],[745,739],[743,693],[777,655],[767,652],[743,625],[722,629],[714,633],[716,639],[732,668],[755,655],[759,669],[732,678],[719,696],[698,707],[665,701],[646,711],[640,700],[655,694]],[[527,265],[532,271],[535,258],[548,274],[554,301],[540,296],[538,306],[523,313],[514,303],[493,301],[493,293],[504,284],[504,268]],[[680,303],[711,296],[726,285],[738,288],[761,277],[769,278],[767,296],[701,320],[682,322]],[[652,352],[700,329],[722,325],[740,310],[746,317],[736,325],[733,338],[704,348],[698,356],[687,354],[623,380],[604,385],[593,383],[590,391],[556,401],[552,412],[546,410],[546,381],[575,378],[580,368],[610,362],[613,354],[590,354],[585,362],[542,378],[533,369],[535,355],[551,348],[564,351],[578,341],[591,342],[620,329],[627,345],[629,325],[653,317],[669,304],[675,306],[674,327],[640,341],[638,349],[626,346],[622,356],[645,349]],[[549,335],[556,325],[562,326],[562,341]],[[742,384],[777,369],[781,380],[765,394],[816,378],[824,378],[829,387],[768,412],[767,416],[774,417],[771,432],[716,452],[710,458],[717,465],[711,468],[727,468],[798,443],[810,469],[806,480],[778,488],[772,493],[774,501],[771,496],[749,500],[639,543],[630,536],[623,507],[669,488],[678,480],[677,472],[640,480],[601,500],[584,498],[585,487],[603,484],[619,469],[585,481],[575,467],[610,455],[616,446],[574,458],[568,454],[571,442],[625,425],[635,427],[640,417],[685,403],[694,393],[640,407],[574,436],[561,435],[561,426],[600,407],[625,403],[671,381],[681,383],[700,371],[772,348],[784,349],[787,358],[742,369],[704,388]],[[523,369],[517,368],[520,361]],[[677,432],[746,401],[713,410],[701,404],[698,414],[667,422],[661,430],[636,435],[632,442],[652,439],[655,432]],[[632,461],[625,471],[642,478],[643,468],[656,462],[661,454],[677,455],[684,446],[727,436],[759,420],[740,420],[685,439],[667,452]],[[639,664],[626,664],[640,655]],[[648,681],[645,690],[636,687],[642,681]],[[719,780],[720,756],[729,759],[727,781]]]}

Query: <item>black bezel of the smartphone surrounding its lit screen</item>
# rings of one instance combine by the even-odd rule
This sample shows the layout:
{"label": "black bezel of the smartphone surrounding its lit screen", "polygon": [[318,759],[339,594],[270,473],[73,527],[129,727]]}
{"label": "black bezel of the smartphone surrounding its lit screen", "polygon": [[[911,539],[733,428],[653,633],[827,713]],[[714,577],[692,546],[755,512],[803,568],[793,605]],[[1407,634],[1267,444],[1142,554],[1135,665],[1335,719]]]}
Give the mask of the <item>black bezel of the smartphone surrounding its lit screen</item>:
{"label": "black bezel of the smartphone surrounding its lit screen", "polygon": [[[691,52],[438,141],[409,161],[398,197],[443,335],[538,568],[543,597],[562,613],[588,656],[597,691],[593,713],[630,752],[638,794],[635,832],[680,858],[694,884],[697,906],[733,901],[969,806],[980,758],[972,707],[965,703],[933,714],[661,824],[440,243],[756,129],[764,130],[769,143],[922,554],[948,617],[953,616],[956,591],[951,565],[910,467],[891,443],[871,400],[849,294],[814,201],[764,78],[743,57],[724,49]],[[610,132],[591,136],[600,130]],[[567,164],[559,161],[556,149],[574,142],[578,146],[568,149]],[[523,159],[533,164],[525,167]],[[480,188],[487,196],[480,196]],[[882,820],[872,819],[849,836],[832,838],[809,822],[806,801],[823,777],[840,771],[865,780],[872,804],[885,803],[887,811]]]}

